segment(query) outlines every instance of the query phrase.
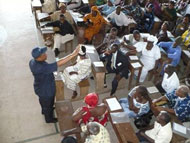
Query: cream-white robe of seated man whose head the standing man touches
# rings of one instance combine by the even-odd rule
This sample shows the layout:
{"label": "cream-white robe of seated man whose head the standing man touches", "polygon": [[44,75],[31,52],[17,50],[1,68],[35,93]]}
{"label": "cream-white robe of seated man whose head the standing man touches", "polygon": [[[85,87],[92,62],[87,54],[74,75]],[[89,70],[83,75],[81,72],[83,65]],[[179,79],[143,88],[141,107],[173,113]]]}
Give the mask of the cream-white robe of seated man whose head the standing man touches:
{"label": "cream-white robe of seated man whose head the standing man touches", "polygon": [[[77,72],[78,74],[70,75],[70,72]],[[91,60],[89,57],[87,59],[81,60],[77,57],[77,63],[74,66],[67,67],[63,72],[64,83],[67,88],[76,91],[77,84],[86,79],[91,73]]]}

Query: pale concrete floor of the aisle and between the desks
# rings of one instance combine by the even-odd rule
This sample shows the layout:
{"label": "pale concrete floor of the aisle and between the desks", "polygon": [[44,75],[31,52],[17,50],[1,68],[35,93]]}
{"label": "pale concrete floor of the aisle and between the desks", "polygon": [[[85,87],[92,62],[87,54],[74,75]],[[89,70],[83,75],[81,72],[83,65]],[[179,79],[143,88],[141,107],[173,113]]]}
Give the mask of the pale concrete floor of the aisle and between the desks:
{"label": "pale concrete floor of the aisle and between the desks", "polygon": [[[45,123],[33,90],[28,63],[32,48],[42,46],[43,41],[30,0],[0,0],[0,18],[0,143],[60,143],[58,125]],[[111,79],[107,81],[109,90]],[[92,92],[94,81],[90,83]],[[125,95],[126,88],[117,91],[118,97]],[[109,94],[101,98],[106,96]],[[74,109],[81,105],[82,101],[73,103]],[[107,128],[112,143],[117,143],[113,129]]]}

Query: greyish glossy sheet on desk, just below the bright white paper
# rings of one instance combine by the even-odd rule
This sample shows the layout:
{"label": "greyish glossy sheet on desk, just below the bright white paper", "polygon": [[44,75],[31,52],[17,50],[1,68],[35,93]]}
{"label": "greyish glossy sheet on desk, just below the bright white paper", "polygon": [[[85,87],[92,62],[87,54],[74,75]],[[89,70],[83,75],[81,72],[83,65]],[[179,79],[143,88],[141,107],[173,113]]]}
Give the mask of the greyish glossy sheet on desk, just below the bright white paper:
{"label": "greyish glossy sheet on desk, just below the bright white paper", "polygon": [[110,113],[110,115],[114,124],[130,122],[129,117],[125,112]]}

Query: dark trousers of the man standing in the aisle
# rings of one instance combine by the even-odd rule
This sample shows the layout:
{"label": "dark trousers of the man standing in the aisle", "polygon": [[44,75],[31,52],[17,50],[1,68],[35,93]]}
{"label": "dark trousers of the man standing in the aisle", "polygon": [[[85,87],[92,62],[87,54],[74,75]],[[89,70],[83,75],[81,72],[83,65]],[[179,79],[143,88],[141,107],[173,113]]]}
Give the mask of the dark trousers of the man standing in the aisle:
{"label": "dark trousers of the man standing in the aisle", "polygon": [[39,97],[39,102],[42,108],[42,114],[44,114],[46,122],[50,122],[53,119],[54,100],[55,96]]}

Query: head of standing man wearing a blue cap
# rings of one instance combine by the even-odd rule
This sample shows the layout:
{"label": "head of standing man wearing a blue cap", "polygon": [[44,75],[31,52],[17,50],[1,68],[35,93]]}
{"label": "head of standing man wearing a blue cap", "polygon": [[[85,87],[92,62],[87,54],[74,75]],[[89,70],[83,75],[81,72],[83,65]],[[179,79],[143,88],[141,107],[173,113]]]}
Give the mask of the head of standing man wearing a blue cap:
{"label": "head of standing man wearing a blue cap", "polygon": [[46,51],[47,47],[43,48],[36,47],[32,50],[32,57],[36,61],[45,61],[47,59]]}

